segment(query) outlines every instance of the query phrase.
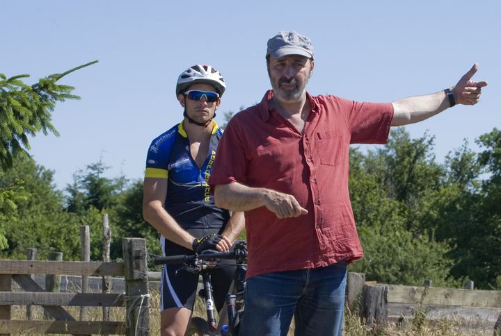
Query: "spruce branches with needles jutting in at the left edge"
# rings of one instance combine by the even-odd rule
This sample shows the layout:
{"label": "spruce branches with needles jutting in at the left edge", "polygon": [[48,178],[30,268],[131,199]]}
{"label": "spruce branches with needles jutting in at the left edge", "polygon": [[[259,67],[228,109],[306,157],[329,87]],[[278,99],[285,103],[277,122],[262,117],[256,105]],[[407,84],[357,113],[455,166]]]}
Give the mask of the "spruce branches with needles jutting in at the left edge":
{"label": "spruce branches with needles jutting in at the left edge", "polygon": [[[74,87],[58,85],[56,82],[71,72],[92,65],[75,67],[63,74],[51,74],[41,78],[34,85],[26,85],[22,74],[7,78],[0,74],[0,169],[6,171],[13,166],[15,157],[28,157],[26,149],[30,148],[28,135],[34,136],[40,131],[47,135],[50,131],[58,135],[51,124],[51,112],[58,101],[80,99],[71,94]],[[22,181],[12,181],[8,185],[0,185],[0,219],[14,220],[17,203],[28,196],[22,188]],[[5,229],[0,227],[0,250],[6,248]]]}

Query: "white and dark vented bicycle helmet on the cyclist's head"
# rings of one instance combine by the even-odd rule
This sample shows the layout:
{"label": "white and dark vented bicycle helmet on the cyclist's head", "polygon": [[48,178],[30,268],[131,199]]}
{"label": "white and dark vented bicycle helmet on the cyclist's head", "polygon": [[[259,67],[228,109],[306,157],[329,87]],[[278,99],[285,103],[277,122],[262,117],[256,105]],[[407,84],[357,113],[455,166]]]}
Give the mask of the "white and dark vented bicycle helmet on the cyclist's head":
{"label": "white and dark vented bicycle helmet on the cyclist's head", "polygon": [[223,76],[211,67],[210,65],[193,65],[184,70],[182,74],[177,78],[176,84],[176,97],[179,94],[184,94],[184,91],[194,83],[207,83],[214,85],[219,96],[223,96],[226,89],[226,84],[224,83]]}

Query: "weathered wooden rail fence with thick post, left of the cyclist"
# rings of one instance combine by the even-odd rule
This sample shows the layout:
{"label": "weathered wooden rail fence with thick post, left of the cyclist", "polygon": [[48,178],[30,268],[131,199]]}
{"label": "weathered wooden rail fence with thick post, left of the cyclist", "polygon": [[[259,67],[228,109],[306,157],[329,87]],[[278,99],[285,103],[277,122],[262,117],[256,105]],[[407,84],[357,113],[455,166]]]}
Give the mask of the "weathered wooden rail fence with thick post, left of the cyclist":
{"label": "weathered wooden rail fence with thick post, left of the cyclist", "polygon": [[[150,335],[145,240],[123,238],[123,263],[0,260],[0,334]],[[32,274],[123,276],[125,294],[46,292]],[[13,280],[24,292],[13,292]],[[13,320],[12,305],[41,305],[53,319]],[[125,307],[125,321],[76,321],[64,306]]]}

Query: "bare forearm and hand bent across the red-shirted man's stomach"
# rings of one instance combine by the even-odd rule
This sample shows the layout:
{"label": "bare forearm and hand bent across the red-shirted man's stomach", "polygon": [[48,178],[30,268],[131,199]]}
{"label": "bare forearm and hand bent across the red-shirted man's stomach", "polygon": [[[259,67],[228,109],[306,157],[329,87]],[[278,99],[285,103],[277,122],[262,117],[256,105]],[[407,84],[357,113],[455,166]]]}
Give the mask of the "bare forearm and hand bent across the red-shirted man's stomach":
{"label": "bare forearm and hand bent across the red-shirted man's stomach", "polygon": [[298,217],[308,213],[292,195],[266,188],[248,187],[237,182],[216,185],[214,198],[218,207],[232,211],[248,211],[266,206],[278,218]]}

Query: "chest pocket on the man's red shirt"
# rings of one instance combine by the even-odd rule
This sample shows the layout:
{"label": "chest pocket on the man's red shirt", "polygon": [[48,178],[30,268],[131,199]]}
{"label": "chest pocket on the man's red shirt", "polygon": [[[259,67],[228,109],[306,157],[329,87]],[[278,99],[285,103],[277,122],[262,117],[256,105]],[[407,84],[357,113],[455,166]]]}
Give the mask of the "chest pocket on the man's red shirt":
{"label": "chest pocket on the man's red shirt", "polygon": [[346,150],[342,136],[338,131],[328,130],[317,132],[315,136],[317,157],[321,165],[337,166],[344,162]]}

